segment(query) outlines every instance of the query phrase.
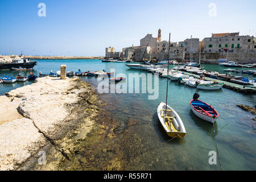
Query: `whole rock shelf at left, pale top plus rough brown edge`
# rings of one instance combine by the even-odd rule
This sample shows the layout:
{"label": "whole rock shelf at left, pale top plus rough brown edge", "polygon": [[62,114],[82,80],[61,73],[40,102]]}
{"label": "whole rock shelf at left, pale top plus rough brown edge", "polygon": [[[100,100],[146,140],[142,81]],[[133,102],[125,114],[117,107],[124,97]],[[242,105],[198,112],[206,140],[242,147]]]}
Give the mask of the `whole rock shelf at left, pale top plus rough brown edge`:
{"label": "whole rock shelf at left, pale top plus rough brown edge", "polygon": [[[32,159],[42,150],[47,153],[46,146],[68,159],[71,148],[65,147],[61,139],[80,122],[89,123],[88,133],[98,110],[93,88],[78,77],[38,78],[34,84],[0,96],[0,101],[1,110],[14,113],[3,112],[0,119],[0,170],[20,169],[38,162]],[[90,121],[79,119],[81,114],[89,115]]]}

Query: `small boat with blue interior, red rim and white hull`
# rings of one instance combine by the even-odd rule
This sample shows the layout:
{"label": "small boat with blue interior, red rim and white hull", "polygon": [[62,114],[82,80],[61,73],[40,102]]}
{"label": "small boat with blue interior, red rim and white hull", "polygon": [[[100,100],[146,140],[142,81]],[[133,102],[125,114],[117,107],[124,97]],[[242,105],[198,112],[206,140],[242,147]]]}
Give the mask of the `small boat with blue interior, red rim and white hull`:
{"label": "small boat with blue interior, red rim and white hull", "polygon": [[192,100],[190,101],[191,109],[193,113],[205,121],[213,124],[218,118],[218,112],[209,104],[200,101]]}

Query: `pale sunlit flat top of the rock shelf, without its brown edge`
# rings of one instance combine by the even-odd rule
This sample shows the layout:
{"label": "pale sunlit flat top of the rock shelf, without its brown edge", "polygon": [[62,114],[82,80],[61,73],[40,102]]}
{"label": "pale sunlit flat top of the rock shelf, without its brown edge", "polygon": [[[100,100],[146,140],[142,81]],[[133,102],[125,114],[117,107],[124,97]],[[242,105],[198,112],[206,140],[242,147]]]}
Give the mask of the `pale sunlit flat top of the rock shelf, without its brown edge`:
{"label": "pale sunlit flat top of the rock shelf, without its brown edge", "polygon": [[86,91],[86,86],[77,87],[78,81],[77,77],[38,78],[0,97],[0,170],[18,168],[61,127],[70,125],[72,121],[65,118],[79,102],[79,94]]}

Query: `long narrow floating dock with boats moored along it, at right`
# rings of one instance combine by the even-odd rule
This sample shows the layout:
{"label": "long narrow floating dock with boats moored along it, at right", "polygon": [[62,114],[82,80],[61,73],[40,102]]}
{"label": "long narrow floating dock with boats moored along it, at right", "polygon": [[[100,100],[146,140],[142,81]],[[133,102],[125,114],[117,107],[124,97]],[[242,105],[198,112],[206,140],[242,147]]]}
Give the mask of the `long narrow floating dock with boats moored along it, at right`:
{"label": "long narrow floating dock with boats moored along it, at right", "polygon": [[[188,72],[184,72],[184,73],[185,73],[185,75],[200,78],[199,75],[195,75],[193,73],[188,73]],[[218,82],[220,84],[223,83],[224,88],[227,88],[227,89],[230,89],[230,90],[233,90],[233,91],[236,91],[236,92],[241,92],[241,93],[244,93],[244,94],[256,93],[256,86],[253,86],[253,85],[234,84],[232,82],[217,80],[217,79],[209,78],[209,77],[205,77],[205,80]]]}

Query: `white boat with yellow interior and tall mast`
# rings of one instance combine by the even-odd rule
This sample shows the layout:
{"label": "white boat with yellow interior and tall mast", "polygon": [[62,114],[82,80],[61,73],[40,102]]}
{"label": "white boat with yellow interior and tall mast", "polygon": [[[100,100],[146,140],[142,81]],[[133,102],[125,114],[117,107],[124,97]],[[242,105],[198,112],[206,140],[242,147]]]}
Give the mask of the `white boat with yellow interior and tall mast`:
{"label": "white boat with yellow interior and tall mast", "polygon": [[159,121],[163,126],[163,129],[166,132],[166,134],[169,137],[184,137],[186,134],[186,130],[179,114],[177,114],[176,111],[168,105],[166,113],[165,110],[166,104],[164,102],[161,102],[158,105],[157,113]]}

